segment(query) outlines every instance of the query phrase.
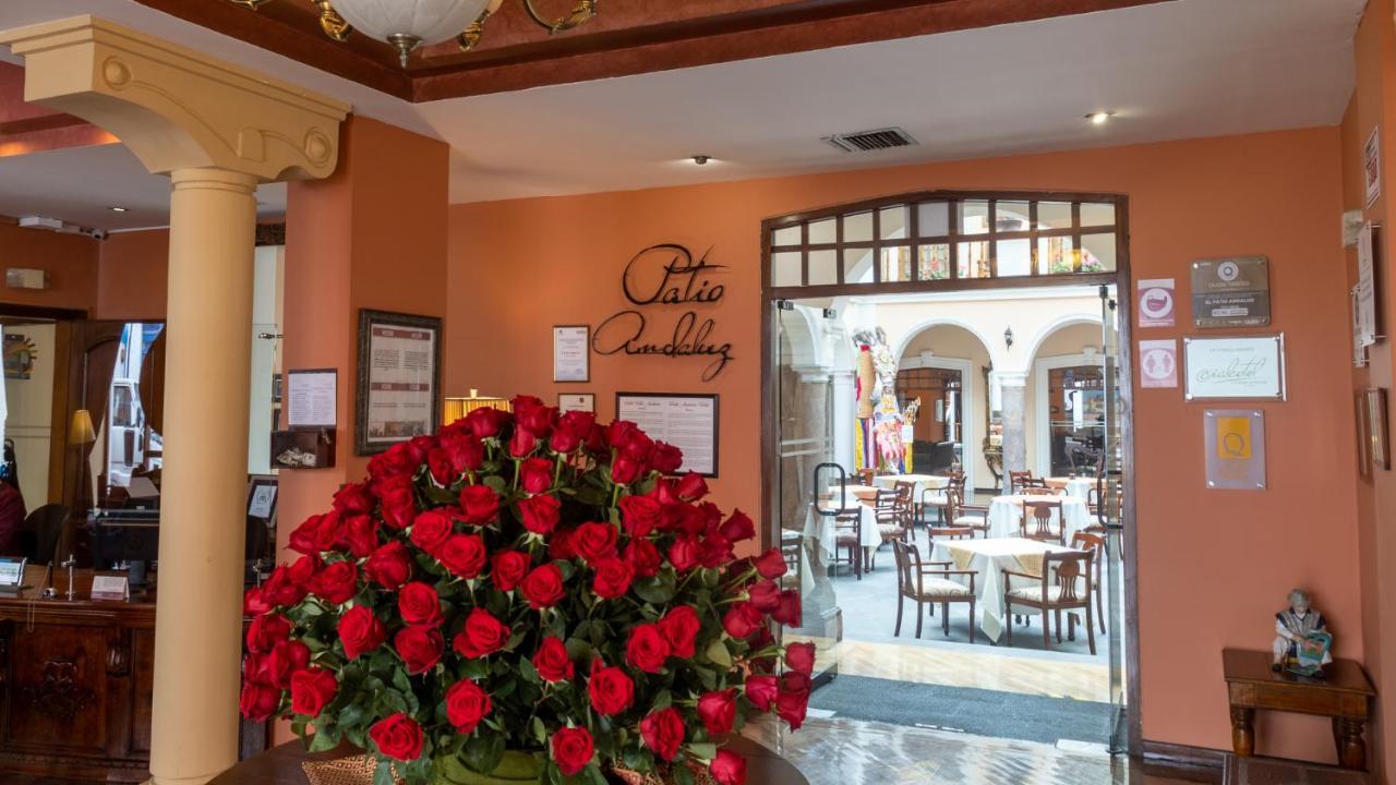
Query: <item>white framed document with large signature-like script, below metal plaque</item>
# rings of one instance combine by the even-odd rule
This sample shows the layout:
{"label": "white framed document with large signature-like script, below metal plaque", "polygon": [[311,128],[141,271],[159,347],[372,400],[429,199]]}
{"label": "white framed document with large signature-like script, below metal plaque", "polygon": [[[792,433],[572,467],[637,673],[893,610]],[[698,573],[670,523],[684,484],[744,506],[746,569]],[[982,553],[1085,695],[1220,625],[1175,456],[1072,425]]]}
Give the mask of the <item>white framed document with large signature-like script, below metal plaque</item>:
{"label": "white framed document with large signature-like script, below metal plaque", "polygon": [[1184,338],[1184,398],[1283,401],[1284,334]]}

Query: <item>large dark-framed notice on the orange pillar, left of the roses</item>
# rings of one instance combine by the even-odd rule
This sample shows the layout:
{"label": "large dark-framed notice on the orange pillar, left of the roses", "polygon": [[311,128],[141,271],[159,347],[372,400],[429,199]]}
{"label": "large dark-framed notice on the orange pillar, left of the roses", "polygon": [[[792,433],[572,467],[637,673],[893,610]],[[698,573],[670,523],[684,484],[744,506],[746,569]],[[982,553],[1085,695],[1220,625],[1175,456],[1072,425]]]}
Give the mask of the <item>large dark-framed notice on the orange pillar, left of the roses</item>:
{"label": "large dark-framed notice on the orange pillar, left of the roses", "polygon": [[355,453],[374,455],[441,423],[441,320],[359,311]]}

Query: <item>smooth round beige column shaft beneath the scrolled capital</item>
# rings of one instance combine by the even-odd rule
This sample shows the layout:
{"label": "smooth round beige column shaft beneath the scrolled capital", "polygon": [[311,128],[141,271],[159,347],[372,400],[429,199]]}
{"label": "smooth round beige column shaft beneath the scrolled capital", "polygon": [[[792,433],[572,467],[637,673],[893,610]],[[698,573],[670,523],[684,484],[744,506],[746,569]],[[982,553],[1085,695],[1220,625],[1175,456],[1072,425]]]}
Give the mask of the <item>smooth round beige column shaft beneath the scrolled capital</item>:
{"label": "smooth round beige column shaft beneath the scrolled capital", "polygon": [[257,222],[251,175],[176,169],[170,180],[156,785],[202,784],[237,763]]}

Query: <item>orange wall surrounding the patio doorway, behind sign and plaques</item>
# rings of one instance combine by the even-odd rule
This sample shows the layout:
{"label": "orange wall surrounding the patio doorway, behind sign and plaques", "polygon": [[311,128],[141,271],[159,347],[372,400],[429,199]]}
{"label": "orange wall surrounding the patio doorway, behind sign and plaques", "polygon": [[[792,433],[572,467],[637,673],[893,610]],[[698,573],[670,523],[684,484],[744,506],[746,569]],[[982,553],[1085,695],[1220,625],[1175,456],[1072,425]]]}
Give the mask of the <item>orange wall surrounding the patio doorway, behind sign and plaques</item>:
{"label": "orange wall surrounding the patio doorway, behind sign and plaques", "polygon": [[[1361,658],[1337,129],[455,205],[447,392],[592,391],[603,418],[621,388],[718,392],[722,478],[712,486],[719,503],[759,513],[761,219],[923,189],[1128,194],[1135,278],[1173,277],[1184,288],[1195,258],[1270,257],[1272,330],[1287,335],[1290,399],[1261,406],[1269,490],[1203,490],[1203,406],[1184,404],[1178,390],[1136,391],[1145,738],[1228,746],[1220,650],[1268,648],[1293,585],[1315,592],[1339,654]],[[591,384],[551,384],[550,327],[595,327],[625,307],[623,265],[660,242],[711,247],[711,261],[729,265],[726,299],[711,316],[736,360],[704,384],[701,360],[593,356]],[[660,316],[652,328],[671,320]],[[1259,732],[1262,751],[1335,757],[1323,722],[1265,718]]]}

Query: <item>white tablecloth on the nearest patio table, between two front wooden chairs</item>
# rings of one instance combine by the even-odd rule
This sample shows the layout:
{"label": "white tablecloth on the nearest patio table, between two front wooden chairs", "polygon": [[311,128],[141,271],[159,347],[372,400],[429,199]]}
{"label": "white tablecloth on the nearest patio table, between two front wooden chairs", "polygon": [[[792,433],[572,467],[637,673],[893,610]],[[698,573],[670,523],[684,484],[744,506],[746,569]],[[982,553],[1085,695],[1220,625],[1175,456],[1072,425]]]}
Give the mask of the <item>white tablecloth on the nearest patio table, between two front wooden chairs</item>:
{"label": "white tablecloth on the nearest patio table, between two front wooden chairs", "polygon": [[[1004,634],[1004,570],[1013,573],[1036,573],[1041,556],[1057,550],[1069,550],[1058,545],[1022,538],[998,539],[938,539],[933,542],[931,562],[951,562],[953,570],[976,570],[974,599],[979,601],[980,629],[988,640],[998,641]],[[1026,559],[1020,559],[1026,557]],[[1034,559],[1036,557],[1036,559]],[[1036,562],[1036,564],[1034,564]],[[969,585],[969,575],[951,575],[952,580]],[[1040,585],[1027,578],[1011,578],[1011,588]],[[970,622],[973,623],[973,620]]]}

